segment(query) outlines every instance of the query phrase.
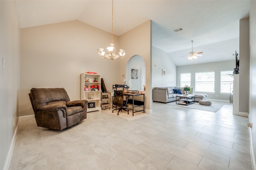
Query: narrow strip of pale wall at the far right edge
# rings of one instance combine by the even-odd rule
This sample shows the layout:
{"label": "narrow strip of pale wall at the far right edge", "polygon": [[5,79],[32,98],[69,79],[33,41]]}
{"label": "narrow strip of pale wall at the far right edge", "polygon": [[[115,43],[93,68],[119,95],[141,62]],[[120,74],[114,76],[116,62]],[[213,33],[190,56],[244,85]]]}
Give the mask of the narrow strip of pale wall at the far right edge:
{"label": "narrow strip of pale wall at the far right edge", "polygon": [[[256,1],[250,3],[250,107],[249,119],[252,122],[252,146],[256,157]],[[254,160],[255,163],[255,160]],[[254,164],[255,165],[255,164]],[[256,168],[256,167],[254,167]]]}

